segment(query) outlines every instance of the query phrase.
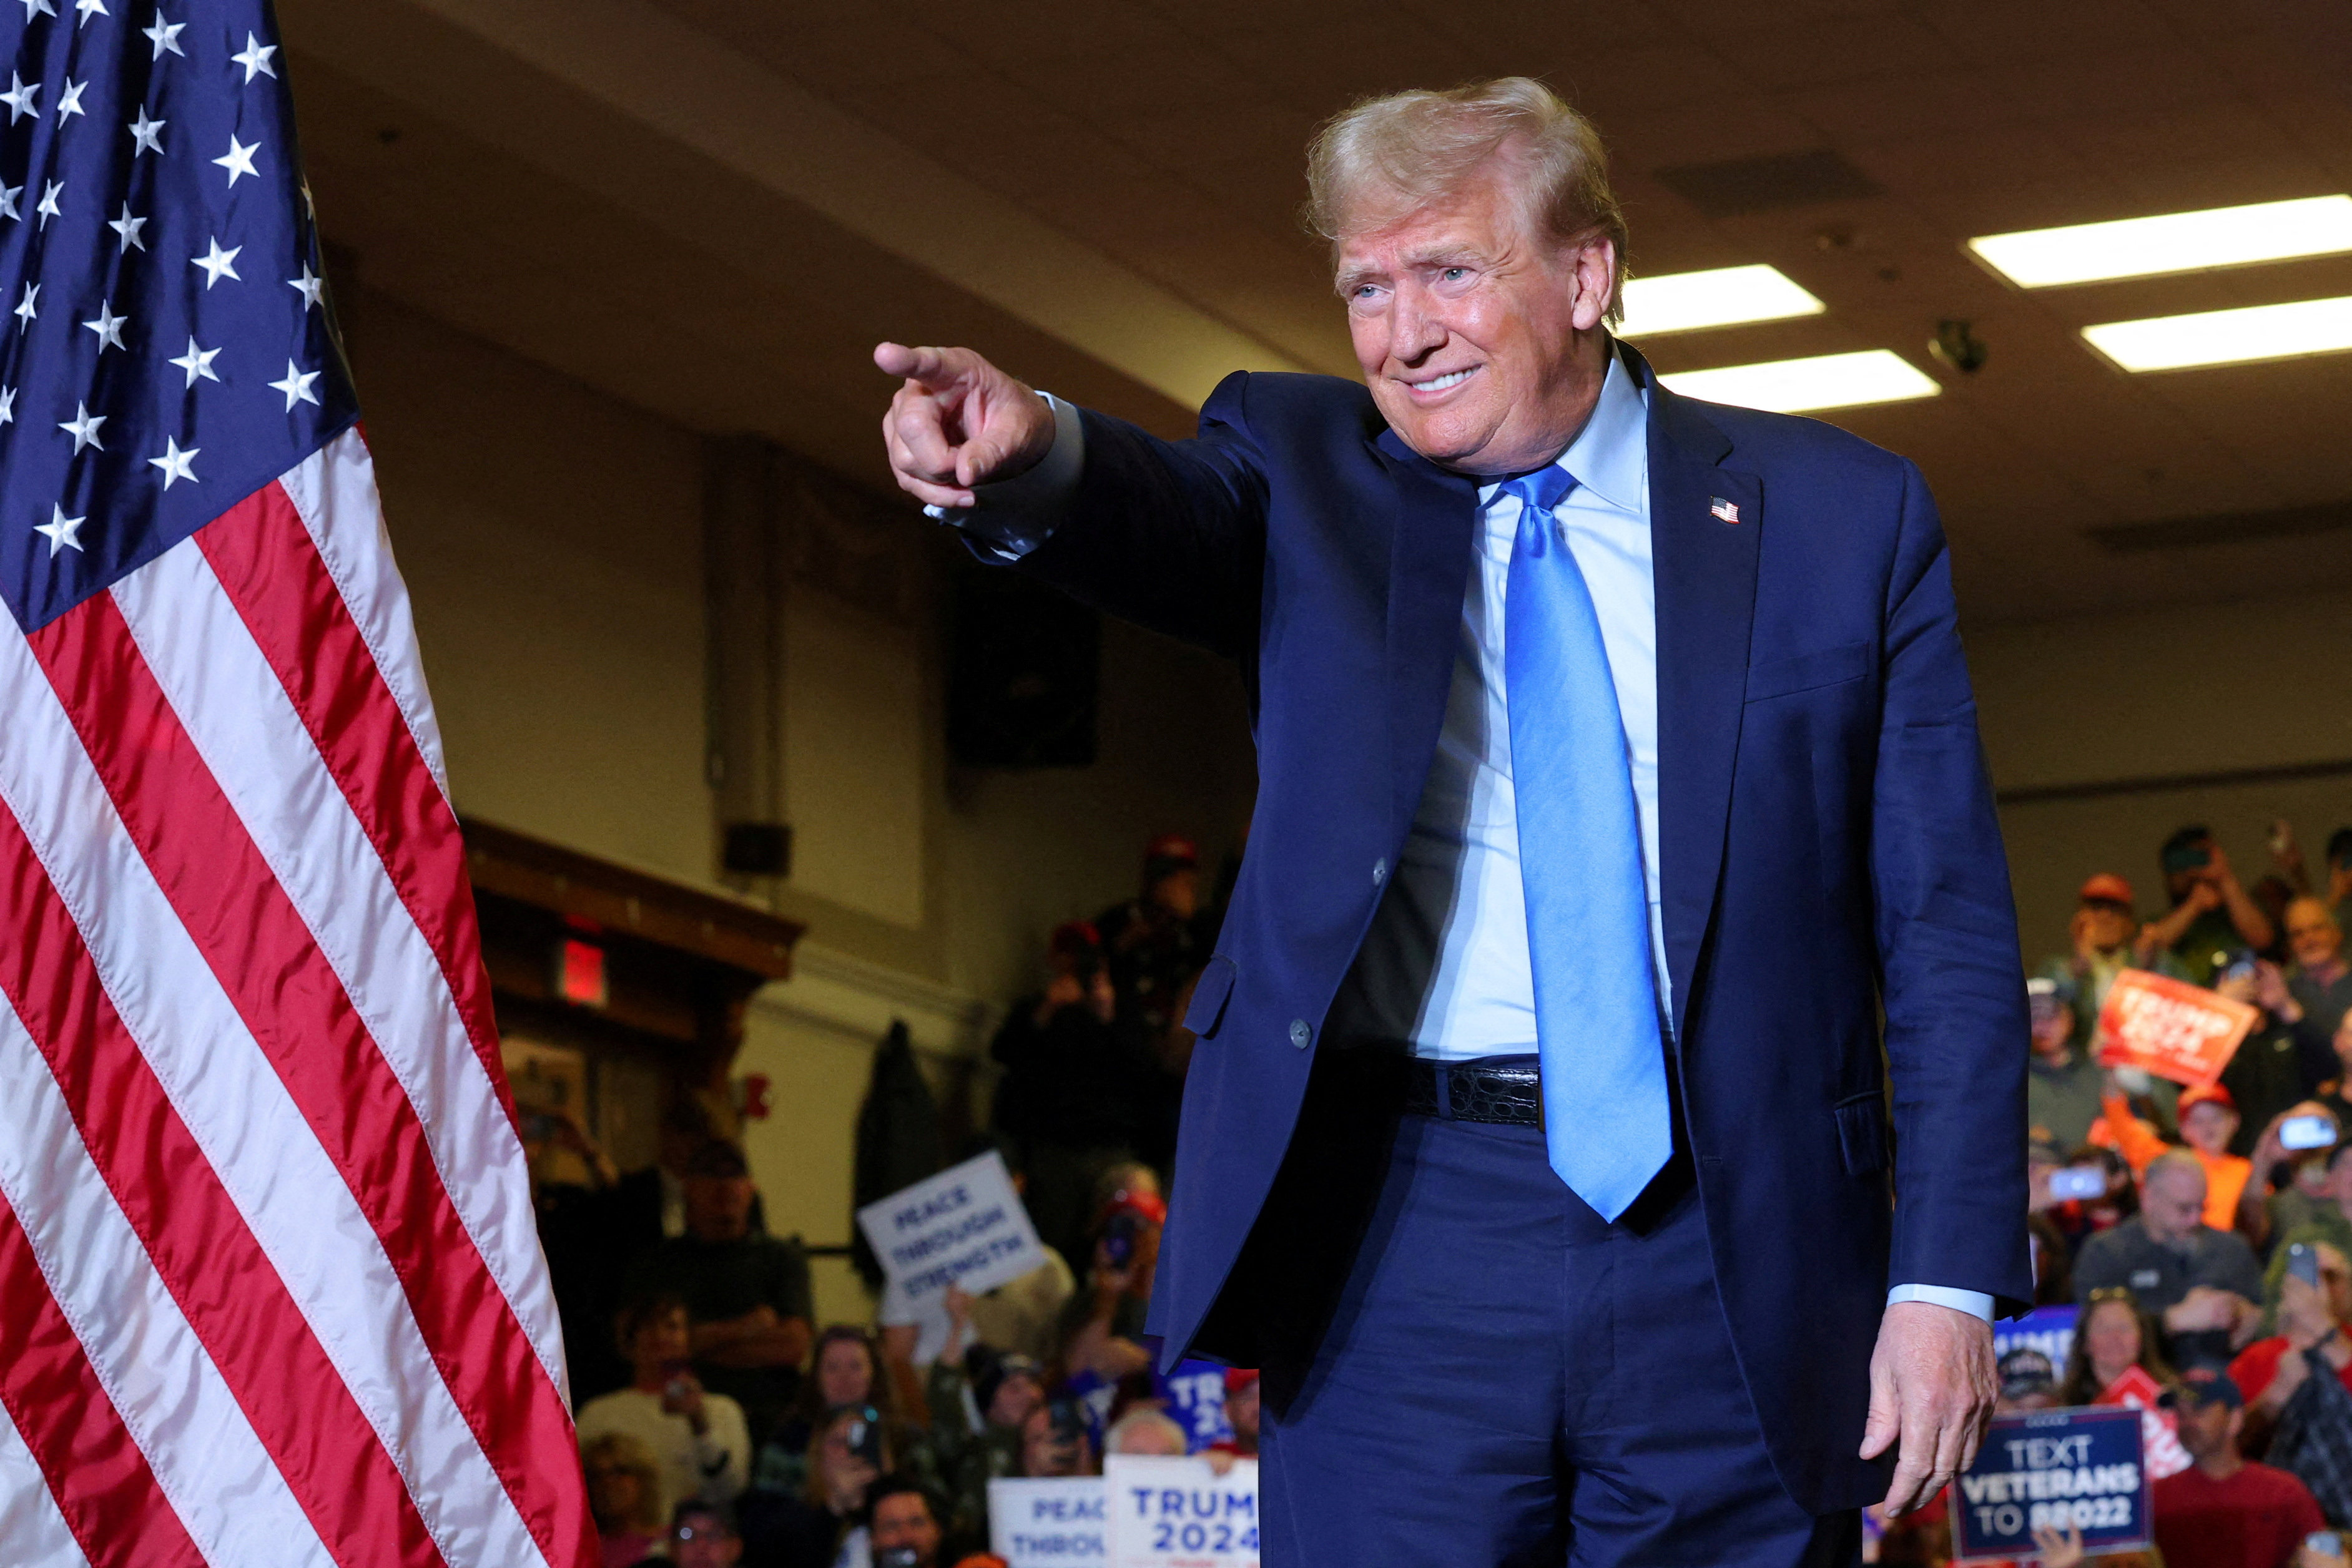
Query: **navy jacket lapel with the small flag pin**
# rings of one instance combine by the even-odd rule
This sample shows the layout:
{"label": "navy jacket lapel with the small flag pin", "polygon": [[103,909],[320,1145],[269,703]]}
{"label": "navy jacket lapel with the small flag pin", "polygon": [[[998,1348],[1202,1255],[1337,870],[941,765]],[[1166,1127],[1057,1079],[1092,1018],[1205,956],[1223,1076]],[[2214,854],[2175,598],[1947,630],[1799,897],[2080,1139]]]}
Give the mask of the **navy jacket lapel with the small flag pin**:
{"label": "navy jacket lapel with the small flag pin", "polygon": [[[1748,689],[1764,482],[1724,468],[1731,442],[1696,407],[1649,388],[1649,536],[1658,595],[1658,882],[1675,1039],[1691,1009],[1722,879],[1731,769]],[[1736,508],[1736,522],[1717,515]]]}

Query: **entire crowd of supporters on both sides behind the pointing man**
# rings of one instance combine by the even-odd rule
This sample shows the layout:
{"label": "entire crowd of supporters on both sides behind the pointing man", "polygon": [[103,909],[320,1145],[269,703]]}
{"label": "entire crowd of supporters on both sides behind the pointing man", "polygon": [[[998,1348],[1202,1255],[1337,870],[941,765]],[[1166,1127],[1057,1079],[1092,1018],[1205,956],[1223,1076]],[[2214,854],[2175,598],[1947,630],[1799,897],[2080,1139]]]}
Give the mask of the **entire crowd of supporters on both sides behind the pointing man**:
{"label": "entire crowd of supporters on both sides behind the pointing man", "polygon": [[[2279,823],[2272,860],[2249,886],[2183,827],[2157,856],[2159,907],[2124,875],[2091,877],[2070,950],[2027,985],[2025,1225],[2039,1302],[2077,1319],[2063,1361],[2002,1359],[2002,1408],[2140,1387],[2178,1443],[2152,1552],[2086,1559],[2042,1533],[2046,1568],[2352,1568],[2324,1549],[2352,1530],[2352,830],[2314,875]],[[993,1128],[962,1150],[1004,1157],[1047,1262],[950,1293],[946,1342],[920,1361],[915,1324],[818,1331],[807,1258],[767,1234],[743,1150],[694,1103],[663,1121],[652,1171],[600,1168],[593,1201],[543,1204],[567,1326],[609,1324],[572,1335],[609,1568],[990,1563],[993,1479],[1256,1453],[1256,1373],[1162,1373],[1143,1345],[1214,905],[1192,846],[1162,837],[1134,900],[1054,931],[1042,987],[993,1044]],[[2256,1009],[2216,1086],[2100,1063],[2126,969]],[[1945,1500],[1870,1526],[1875,1561],[1950,1561]]]}

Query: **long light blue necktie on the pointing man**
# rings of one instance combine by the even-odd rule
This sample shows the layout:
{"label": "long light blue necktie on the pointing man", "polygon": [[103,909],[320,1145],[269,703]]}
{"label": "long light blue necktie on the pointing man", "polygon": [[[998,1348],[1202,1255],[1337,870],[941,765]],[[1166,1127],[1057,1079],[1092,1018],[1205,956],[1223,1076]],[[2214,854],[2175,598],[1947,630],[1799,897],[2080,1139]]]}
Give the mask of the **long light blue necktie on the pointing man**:
{"label": "long light blue necktie on the pointing man", "polygon": [[1559,1180],[1616,1220],[1665,1166],[1672,1128],[1625,719],[1592,590],[1552,524],[1552,508],[1573,487],[1552,463],[1496,491],[1494,501],[1519,498],[1503,691],[1543,1138]]}

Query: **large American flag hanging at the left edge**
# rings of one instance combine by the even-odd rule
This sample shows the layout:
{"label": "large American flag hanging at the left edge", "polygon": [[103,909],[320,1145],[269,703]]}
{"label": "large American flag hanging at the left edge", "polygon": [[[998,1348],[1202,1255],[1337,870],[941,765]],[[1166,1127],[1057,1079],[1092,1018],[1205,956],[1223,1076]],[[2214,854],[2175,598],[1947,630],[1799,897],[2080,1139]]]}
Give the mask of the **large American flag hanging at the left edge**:
{"label": "large American flag hanging at the left edge", "polygon": [[263,0],[0,0],[0,1561],[595,1561]]}

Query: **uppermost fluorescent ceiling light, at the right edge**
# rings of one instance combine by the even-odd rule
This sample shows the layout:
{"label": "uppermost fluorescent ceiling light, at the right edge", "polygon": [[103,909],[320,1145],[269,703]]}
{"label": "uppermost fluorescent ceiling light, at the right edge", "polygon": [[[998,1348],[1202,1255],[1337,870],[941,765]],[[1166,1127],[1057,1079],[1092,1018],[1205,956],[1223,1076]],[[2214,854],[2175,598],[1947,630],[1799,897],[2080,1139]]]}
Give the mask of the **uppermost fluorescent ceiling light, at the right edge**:
{"label": "uppermost fluorescent ceiling light, at the right edge", "polygon": [[2169,212],[2159,219],[2027,228],[1969,240],[1994,273],[2025,289],[2107,277],[2199,273],[2251,261],[2352,252],[2352,195]]}

